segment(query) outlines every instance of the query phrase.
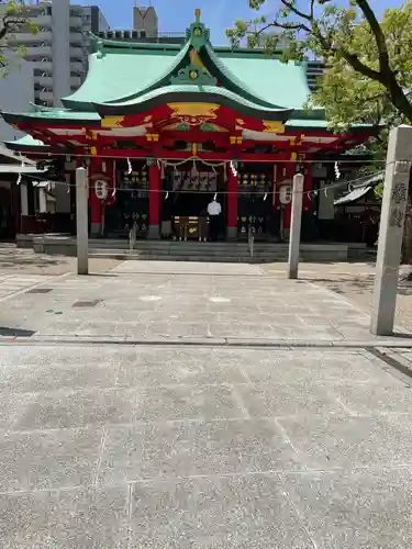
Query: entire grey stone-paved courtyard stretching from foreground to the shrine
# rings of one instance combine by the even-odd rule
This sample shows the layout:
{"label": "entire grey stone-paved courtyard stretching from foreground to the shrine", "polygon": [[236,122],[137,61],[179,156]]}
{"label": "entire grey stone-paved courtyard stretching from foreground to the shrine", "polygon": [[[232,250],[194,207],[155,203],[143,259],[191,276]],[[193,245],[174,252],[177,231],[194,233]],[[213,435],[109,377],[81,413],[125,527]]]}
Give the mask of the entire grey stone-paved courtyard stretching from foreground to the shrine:
{"label": "entire grey stone-paved courtyard stretching from foreground to the shrine", "polygon": [[42,280],[0,295],[1,548],[411,547],[411,380],[366,313],[258,266]]}

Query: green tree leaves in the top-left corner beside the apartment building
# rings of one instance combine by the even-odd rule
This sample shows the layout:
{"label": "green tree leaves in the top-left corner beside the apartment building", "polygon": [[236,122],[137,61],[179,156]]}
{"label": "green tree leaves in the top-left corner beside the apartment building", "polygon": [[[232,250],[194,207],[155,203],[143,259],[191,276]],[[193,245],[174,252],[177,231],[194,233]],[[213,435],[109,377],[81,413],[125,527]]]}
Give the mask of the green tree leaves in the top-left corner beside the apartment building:
{"label": "green tree leaves in the top-left corner beside the apartment building", "polygon": [[10,46],[10,36],[23,30],[36,34],[37,27],[29,19],[30,11],[24,0],[0,0],[0,77],[4,77],[8,75],[8,53],[14,49],[22,56],[25,54],[24,46]]}

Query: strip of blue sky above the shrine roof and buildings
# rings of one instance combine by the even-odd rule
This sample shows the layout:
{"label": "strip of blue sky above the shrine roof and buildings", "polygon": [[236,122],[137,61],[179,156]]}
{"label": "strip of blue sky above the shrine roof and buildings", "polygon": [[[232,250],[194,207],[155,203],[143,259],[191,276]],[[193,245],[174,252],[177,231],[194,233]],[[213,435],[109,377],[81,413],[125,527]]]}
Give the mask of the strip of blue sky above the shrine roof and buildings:
{"label": "strip of blue sky above the shrine roof and buildings", "polygon": [[[137,0],[140,5],[148,5],[149,0]],[[134,0],[71,0],[71,3],[98,4],[107,16],[112,29],[131,29]],[[305,3],[301,1],[302,5]],[[386,5],[401,5],[402,0],[371,0],[371,5],[379,11]],[[226,43],[225,29],[235,19],[250,19],[256,12],[248,9],[248,0],[152,0],[159,18],[160,32],[185,32],[193,21],[196,8],[202,10],[202,22],[211,29],[214,44]],[[268,0],[263,13],[270,13],[278,4],[277,0]]]}

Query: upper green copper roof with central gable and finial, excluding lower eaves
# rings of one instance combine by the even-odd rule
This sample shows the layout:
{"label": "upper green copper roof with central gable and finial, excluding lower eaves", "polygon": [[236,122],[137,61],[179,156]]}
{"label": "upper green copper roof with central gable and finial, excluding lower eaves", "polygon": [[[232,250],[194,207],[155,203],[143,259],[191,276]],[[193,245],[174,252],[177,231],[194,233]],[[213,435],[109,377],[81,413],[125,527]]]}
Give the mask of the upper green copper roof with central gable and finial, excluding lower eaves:
{"label": "upper green copper roof with central gable and finial, excluding lower eaves", "polygon": [[[172,93],[174,86],[186,85],[202,96],[212,86],[215,94],[236,104],[254,105],[256,111],[302,109],[307,102],[310,92],[304,65],[281,64],[263,52],[250,56],[243,51],[214,49],[198,10],[187,37],[180,51],[176,46],[97,40],[88,77],[78,91],[63,98],[64,105],[90,111],[98,104],[100,112],[113,112],[111,105],[131,107],[130,101],[138,105],[138,99],[152,91],[160,94],[169,87]],[[216,92],[218,88],[230,93]],[[105,111],[103,104],[108,105]]]}

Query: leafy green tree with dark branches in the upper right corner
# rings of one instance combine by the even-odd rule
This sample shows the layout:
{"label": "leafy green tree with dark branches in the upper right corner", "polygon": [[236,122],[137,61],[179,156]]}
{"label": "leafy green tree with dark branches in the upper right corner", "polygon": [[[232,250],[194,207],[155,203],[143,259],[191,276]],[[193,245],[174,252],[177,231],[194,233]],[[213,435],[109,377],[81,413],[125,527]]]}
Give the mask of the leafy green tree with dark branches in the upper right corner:
{"label": "leafy green tree with dark branches in the upper right corner", "polygon": [[[249,0],[263,11],[266,0]],[[323,59],[325,72],[310,99],[335,127],[354,123],[412,124],[412,0],[382,18],[367,0],[278,0],[276,13],[236,21],[234,46],[247,40],[282,60]]]}

